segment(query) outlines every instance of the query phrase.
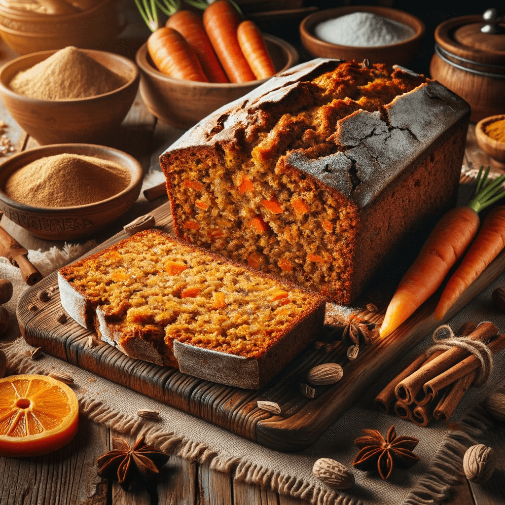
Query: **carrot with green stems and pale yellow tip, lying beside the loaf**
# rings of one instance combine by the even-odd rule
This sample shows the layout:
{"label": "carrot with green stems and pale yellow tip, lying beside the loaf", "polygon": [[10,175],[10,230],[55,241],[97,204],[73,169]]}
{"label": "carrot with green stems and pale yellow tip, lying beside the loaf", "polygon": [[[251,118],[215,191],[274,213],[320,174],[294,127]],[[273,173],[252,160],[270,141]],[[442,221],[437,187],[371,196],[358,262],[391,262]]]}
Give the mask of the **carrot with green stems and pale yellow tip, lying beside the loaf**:
{"label": "carrot with green stems and pale yellow tip, lying beside the loaf", "polygon": [[474,198],[466,206],[452,209],[437,223],[414,264],[401,279],[380,329],[385,337],[406,321],[440,286],[453,265],[463,256],[479,230],[479,212],[501,198],[500,184],[505,176],[487,183],[486,170],[477,177]]}

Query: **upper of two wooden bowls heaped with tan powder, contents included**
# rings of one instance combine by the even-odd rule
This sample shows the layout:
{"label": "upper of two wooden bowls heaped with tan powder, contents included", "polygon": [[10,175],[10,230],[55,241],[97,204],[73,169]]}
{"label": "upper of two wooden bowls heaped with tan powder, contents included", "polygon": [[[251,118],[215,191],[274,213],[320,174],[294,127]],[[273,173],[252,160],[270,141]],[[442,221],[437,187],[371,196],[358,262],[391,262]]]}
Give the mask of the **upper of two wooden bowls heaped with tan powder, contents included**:
{"label": "upper of two wooden bowls heaped with tan powder, contents included", "polygon": [[0,96],[39,144],[104,143],[130,110],[139,83],[128,58],[68,46],[0,69]]}

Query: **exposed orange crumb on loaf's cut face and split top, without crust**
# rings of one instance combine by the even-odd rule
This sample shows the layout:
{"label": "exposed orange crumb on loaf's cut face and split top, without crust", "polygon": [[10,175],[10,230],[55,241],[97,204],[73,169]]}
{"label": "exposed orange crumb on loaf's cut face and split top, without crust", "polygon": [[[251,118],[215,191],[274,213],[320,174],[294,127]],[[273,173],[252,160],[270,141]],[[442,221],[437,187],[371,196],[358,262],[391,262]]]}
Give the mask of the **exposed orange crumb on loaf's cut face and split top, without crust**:
{"label": "exposed orange crumb on loaf's cut face and split top, without crust", "polygon": [[[339,120],[359,110],[385,116],[384,105],[424,82],[385,65],[342,63],[251,108],[233,138],[168,150],[162,167],[177,236],[349,303],[360,209],[285,159],[337,153]],[[223,128],[218,122],[211,135]],[[348,177],[357,184],[352,169]]]}

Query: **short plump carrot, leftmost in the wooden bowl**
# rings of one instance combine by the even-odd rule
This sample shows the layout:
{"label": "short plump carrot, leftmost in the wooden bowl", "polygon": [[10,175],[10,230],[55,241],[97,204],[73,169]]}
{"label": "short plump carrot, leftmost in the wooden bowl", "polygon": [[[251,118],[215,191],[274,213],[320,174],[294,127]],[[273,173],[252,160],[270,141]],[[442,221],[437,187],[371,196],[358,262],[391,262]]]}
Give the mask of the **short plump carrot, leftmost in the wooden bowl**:
{"label": "short plump carrot, leftmost in the wooden bowl", "polygon": [[158,70],[174,79],[209,82],[184,37],[173,28],[158,28],[147,39],[147,50]]}

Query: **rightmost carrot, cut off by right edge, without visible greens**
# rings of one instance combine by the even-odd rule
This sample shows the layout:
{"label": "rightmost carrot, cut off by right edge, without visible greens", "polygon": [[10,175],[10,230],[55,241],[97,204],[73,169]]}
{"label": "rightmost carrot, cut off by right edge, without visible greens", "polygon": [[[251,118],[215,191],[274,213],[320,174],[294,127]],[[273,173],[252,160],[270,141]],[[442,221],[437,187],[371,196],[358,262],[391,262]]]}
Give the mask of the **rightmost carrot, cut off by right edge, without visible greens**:
{"label": "rightmost carrot, cut off by right edge, without visible greens", "polygon": [[463,291],[477,279],[504,247],[505,206],[502,205],[493,209],[484,219],[474,243],[442,292],[435,309],[435,319],[440,320],[445,316]]}

